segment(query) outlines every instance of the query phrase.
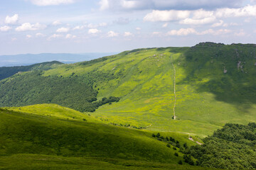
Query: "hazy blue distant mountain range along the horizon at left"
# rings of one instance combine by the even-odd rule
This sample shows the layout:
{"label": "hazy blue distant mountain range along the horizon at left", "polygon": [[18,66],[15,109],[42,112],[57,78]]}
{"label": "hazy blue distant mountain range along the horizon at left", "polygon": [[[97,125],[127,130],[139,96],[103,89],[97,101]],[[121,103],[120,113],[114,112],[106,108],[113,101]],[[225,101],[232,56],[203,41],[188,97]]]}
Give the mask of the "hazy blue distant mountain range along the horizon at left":
{"label": "hazy blue distant mountain range along the horizon at left", "polygon": [[26,66],[41,62],[59,61],[65,64],[74,62],[82,62],[97,59],[107,55],[114,55],[116,52],[102,52],[102,53],[82,53],[82,54],[68,54],[68,53],[42,53],[42,54],[25,54],[25,55],[0,55],[0,67],[11,66]]}

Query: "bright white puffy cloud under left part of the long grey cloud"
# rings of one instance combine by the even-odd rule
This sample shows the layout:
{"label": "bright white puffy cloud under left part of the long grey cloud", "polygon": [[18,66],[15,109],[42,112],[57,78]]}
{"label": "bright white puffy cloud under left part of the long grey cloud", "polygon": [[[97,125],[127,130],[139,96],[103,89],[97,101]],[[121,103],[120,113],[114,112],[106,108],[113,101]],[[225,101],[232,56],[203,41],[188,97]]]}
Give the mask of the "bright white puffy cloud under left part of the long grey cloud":
{"label": "bright white puffy cloud under left part of the long grey cloud", "polygon": [[153,10],[151,13],[146,14],[144,17],[144,21],[151,21],[151,22],[156,22],[156,21],[178,21],[181,19],[188,18],[190,15],[190,11],[175,11],[175,10],[170,10],[170,11],[158,11],[158,10]]}

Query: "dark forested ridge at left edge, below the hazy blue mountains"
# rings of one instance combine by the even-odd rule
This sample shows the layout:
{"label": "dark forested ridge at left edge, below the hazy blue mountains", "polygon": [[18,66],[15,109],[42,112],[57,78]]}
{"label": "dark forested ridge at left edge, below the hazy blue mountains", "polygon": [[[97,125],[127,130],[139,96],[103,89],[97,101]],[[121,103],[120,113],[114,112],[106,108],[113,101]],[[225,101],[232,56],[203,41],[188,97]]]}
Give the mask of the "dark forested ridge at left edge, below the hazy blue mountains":
{"label": "dark forested ridge at left edge, below the hazy blue mountains", "polygon": [[35,71],[35,70],[48,70],[53,69],[59,64],[63,64],[62,62],[43,62],[39,64],[32,64],[28,66],[15,66],[15,67],[0,67],[0,80],[6,79],[7,77],[11,77],[16,73]]}

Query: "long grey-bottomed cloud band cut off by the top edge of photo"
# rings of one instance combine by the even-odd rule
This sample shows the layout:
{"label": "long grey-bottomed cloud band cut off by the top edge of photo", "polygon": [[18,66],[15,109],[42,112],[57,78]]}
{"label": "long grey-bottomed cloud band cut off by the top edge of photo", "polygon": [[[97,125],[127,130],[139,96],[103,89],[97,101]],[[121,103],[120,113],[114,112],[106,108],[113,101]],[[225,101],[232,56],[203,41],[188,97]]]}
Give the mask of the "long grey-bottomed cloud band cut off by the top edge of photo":
{"label": "long grey-bottomed cloud band cut off by the top edge of photo", "polygon": [[100,10],[137,10],[137,9],[154,9],[154,10],[167,10],[167,9],[200,9],[200,8],[237,8],[242,5],[243,1],[240,0],[101,0]]}

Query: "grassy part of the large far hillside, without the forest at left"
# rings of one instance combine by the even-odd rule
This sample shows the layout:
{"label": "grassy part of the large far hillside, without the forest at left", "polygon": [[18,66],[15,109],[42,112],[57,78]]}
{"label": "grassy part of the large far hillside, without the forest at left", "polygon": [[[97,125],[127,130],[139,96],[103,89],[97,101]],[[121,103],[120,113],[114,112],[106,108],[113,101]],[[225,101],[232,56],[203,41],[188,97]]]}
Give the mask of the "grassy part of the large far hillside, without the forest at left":
{"label": "grassy part of the large far hillside, without the forest at left", "polygon": [[[242,59],[233,60],[235,49],[245,53]],[[116,79],[96,79],[95,89],[100,89],[98,96],[122,96],[122,99],[111,106],[102,106],[94,115],[113,123],[146,127],[147,130],[205,137],[225,123],[255,121],[255,103],[240,100],[240,95],[236,97],[240,105],[230,102],[233,98],[230,94],[234,92],[230,93],[230,84],[223,82],[223,79],[230,79],[236,87],[255,84],[254,50],[240,45],[142,49],[122,52],[93,64],[78,63],[68,71],[63,66],[44,75],[68,77],[75,72],[82,76],[91,70],[114,74]],[[237,69],[238,60],[247,60],[250,74],[246,74],[245,79],[245,72]],[[227,74],[223,73],[223,62]],[[174,106],[174,69],[171,63],[176,67],[176,115],[179,120],[171,119]],[[242,82],[235,79],[236,74],[241,74]],[[248,79],[252,80],[245,82]],[[213,81],[215,91],[210,87]],[[242,91],[242,88],[237,90]],[[221,100],[223,96],[230,96],[230,101]],[[245,110],[245,106],[249,107]]]}

